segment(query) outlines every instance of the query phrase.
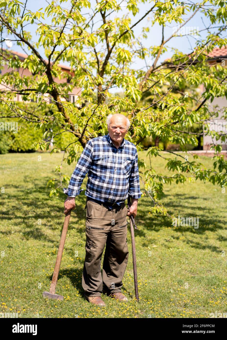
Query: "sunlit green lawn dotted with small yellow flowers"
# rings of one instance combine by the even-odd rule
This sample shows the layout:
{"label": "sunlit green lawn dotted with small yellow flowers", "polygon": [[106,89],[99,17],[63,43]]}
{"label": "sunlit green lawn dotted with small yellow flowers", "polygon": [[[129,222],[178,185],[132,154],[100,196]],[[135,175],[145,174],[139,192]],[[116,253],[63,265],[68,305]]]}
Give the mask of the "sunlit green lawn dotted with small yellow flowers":
{"label": "sunlit green lawn dotted with small yellow flowers", "polygon": [[[20,318],[209,318],[215,311],[227,312],[227,192],[200,181],[165,186],[163,199],[175,216],[199,217],[198,229],[173,227],[169,218],[149,213],[149,197],[139,200],[135,242],[140,301],[134,297],[128,226],[129,261],[122,290],[128,302],[102,295],[106,307],[89,304],[83,296],[86,196],[82,191],[71,214],[56,286],[64,300],[44,299],[42,293],[49,291],[55,265],[66,198],[64,193],[50,198],[46,184],[57,178],[54,169],[62,156],[0,155],[0,189],[5,191],[0,194],[1,312],[18,313]],[[139,152],[139,157],[149,166],[146,152]],[[199,159],[204,166],[211,166],[211,158]],[[151,160],[158,172],[167,173],[161,157]],[[63,172],[71,175],[74,167],[64,164]]]}

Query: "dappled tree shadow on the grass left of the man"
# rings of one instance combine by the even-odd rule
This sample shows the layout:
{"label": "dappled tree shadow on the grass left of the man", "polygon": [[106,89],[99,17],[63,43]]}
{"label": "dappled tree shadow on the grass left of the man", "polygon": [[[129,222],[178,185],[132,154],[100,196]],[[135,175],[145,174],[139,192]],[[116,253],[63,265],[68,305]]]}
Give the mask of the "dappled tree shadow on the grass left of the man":
{"label": "dappled tree shadow on the grass left of the man", "polygon": [[[45,183],[49,180],[49,177],[42,179]],[[60,235],[62,233],[62,228],[64,225],[64,201],[66,195],[62,192],[58,197],[49,197],[50,189],[46,185],[40,184],[38,180],[34,181],[33,189],[22,188],[21,186],[15,185],[5,185],[5,192],[7,190],[13,189],[15,194],[13,200],[9,194],[0,196],[0,205],[5,207],[5,211],[1,211],[1,220],[11,221],[13,220],[13,226],[23,225],[23,228],[15,233],[21,233],[26,238],[34,238],[36,240],[46,240],[48,239],[46,234],[42,231],[41,226],[37,227],[38,221],[42,221],[42,227],[48,227],[51,230],[59,230]],[[72,211],[69,227],[68,229],[74,229],[75,218],[86,218],[86,211],[84,206],[86,204],[86,196],[80,195],[77,198],[76,208]],[[7,206],[10,209],[7,210]],[[54,222],[53,222],[54,219]],[[41,222],[39,222],[41,224]],[[79,233],[84,233],[83,228],[77,228]],[[29,230],[28,230],[29,229]],[[4,232],[3,232],[4,233]],[[12,232],[9,232],[11,234]]]}

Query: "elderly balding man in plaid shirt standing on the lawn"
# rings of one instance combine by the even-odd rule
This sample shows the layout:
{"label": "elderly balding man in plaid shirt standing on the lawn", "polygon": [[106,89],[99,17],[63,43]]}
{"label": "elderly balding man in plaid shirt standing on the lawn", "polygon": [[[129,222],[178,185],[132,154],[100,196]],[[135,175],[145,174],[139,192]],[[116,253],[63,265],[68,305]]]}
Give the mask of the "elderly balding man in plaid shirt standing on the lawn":
{"label": "elderly balding man in plaid shirt standing on the lawn", "polygon": [[[141,198],[138,154],[136,147],[124,139],[130,122],[124,115],[107,117],[108,134],[89,140],[71,176],[64,214],[75,208],[75,197],[87,174],[86,185],[86,255],[82,287],[86,299],[105,306],[101,293],[128,301],[121,293],[122,279],[128,262],[127,219],[137,214]],[[128,195],[132,205],[128,210]],[[84,208],[84,209],[85,209]],[[101,256],[106,244],[101,275]],[[104,285],[104,287],[103,287]]]}

